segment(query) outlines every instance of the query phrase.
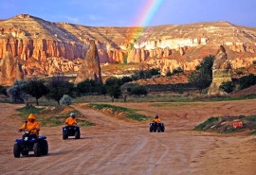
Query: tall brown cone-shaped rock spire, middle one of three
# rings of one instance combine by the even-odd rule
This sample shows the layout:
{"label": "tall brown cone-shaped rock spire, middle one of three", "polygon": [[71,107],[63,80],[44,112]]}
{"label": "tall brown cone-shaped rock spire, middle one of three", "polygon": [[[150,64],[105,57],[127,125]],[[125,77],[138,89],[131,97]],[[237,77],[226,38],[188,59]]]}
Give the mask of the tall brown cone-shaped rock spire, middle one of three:
{"label": "tall brown cone-shaped rock spire, middle one of three", "polygon": [[94,41],[90,42],[90,48],[86,53],[86,57],[82,61],[75,83],[79,83],[85,79],[93,79],[102,83],[101,66],[98,50]]}

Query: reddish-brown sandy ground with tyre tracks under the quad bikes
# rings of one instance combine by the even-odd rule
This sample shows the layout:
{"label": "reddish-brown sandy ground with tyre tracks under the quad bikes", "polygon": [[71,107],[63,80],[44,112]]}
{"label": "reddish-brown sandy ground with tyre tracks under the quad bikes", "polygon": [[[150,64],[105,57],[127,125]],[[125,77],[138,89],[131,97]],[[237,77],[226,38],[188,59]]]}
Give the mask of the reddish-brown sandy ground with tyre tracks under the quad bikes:
{"label": "reddish-brown sandy ground with tyre tracks under the quad bikes", "polygon": [[[14,158],[15,116],[21,105],[0,103],[1,174],[87,175],[254,175],[256,141],[245,134],[213,134],[192,131],[210,116],[256,114],[256,100],[195,103],[119,103],[158,114],[165,132],[149,132],[149,122],[129,122],[76,105],[94,127],[82,127],[82,138],[62,139],[62,127],[42,128],[48,155]],[[118,104],[118,103],[113,103]],[[159,105],[160,104],[160,105]]]}

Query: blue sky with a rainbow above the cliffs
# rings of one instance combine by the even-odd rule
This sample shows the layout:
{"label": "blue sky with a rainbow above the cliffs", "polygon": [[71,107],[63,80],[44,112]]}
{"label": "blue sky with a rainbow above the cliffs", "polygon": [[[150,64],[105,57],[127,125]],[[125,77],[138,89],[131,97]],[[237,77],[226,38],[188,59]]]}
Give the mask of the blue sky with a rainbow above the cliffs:
{"label": "blue sky with a rainbow above the cliffs", "polygon": [[256,0],[0,0],[0,19],[18,14],[82,26],[228,21],[256,27]]}

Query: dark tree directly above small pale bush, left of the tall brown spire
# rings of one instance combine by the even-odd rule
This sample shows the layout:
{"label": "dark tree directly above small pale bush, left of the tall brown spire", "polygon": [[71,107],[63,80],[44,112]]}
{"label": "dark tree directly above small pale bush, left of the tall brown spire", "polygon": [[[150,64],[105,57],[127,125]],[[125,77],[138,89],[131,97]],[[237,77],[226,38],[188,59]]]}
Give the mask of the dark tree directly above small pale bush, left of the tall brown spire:
{"label": "dark tree directly above small pale bush, left of the tall brown spire", "polygon": [[47,88],[50,90],[48,98],[52,98],[60,104],[60,99],[64,95],[73,96],[74,84],[68,82],[63,73],[57,73],[49,79]]}

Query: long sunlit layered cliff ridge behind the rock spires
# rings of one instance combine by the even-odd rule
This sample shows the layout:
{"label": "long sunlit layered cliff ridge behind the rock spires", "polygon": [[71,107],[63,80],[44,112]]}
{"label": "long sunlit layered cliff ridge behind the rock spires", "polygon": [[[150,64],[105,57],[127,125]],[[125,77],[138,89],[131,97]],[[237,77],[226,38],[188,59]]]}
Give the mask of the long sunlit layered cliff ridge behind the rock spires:
{"label": "long sunlit layered cliff ridge behind the rock spires", "polygon": [[[146,62],[162,74],[193,70],[225,45],[233,68],[256,61],[256,28],[229,22],[148,27],[53,23],[29,14],[0,21],[0,60],[7,52],[22,62],[25,76],[77,72],[94,40],[101,63]],[[1,82],[0,82],[1,84]]]}

